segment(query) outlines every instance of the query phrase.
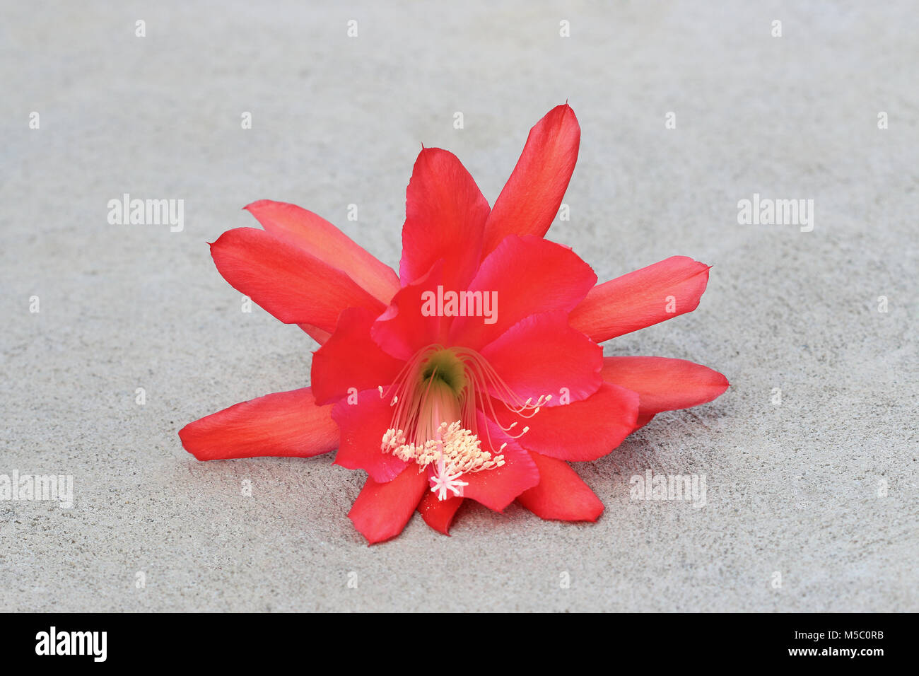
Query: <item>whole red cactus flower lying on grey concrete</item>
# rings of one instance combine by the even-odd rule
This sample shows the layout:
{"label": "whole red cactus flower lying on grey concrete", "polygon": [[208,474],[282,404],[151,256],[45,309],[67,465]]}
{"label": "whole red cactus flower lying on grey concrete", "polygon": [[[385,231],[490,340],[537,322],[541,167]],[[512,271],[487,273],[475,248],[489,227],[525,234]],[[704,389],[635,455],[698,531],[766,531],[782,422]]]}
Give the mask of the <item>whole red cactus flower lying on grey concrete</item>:
{"label": "whole red cactus flower lying on grey concrete", "polygon": [[246,207],[264,230],[226,232],[211,255],[235,289],[322,345],[312,387],[201,418],[179,432],[185,448],[199,460],[337,448],[336,464],[369,475],[349,516],[371,544],[414,510],[447,533],[464,498],[596,521],[603,504],[568,461],[728,382],[689,361],[603,357],[600,342],[694,310],[709,267],[667,258],[596,285],[543,239],[580,136],[570,107],[550,110],[493,208],[456,156],[422,150],[398,276],[312,212]]}

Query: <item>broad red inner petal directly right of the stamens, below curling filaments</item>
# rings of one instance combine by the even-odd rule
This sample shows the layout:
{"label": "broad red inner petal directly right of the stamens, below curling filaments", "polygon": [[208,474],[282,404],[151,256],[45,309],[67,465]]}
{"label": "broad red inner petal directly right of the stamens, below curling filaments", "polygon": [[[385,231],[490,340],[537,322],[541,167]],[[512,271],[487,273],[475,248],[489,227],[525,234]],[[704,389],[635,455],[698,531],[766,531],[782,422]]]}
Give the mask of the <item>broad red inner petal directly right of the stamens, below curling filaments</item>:
{"label": "broad red inner petal directly right of the stamens, below curling filaments", "polygon": [[[496,401],[494,407],[505,427],[517,419],[504,407],[498,408]],[[522,430],[525,425],[529,427],[520,437],[521,445],[528,451],[560,460],[596,460],[630,435],[637,416],[638,395],[605,383],[584,401],[541,408],[532,418],[519,422],[514,431]]]}

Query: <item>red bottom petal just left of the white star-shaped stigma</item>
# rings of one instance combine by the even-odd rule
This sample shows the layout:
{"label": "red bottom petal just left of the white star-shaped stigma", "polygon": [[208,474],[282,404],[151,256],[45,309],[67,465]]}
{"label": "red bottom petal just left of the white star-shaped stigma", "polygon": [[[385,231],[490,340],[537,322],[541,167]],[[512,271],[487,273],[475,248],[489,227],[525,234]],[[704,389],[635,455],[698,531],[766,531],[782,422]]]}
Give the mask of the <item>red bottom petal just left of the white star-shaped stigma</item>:
{"label": "red bottom petal just left of the white star-shaped stigma", "polygon": [[419,472],[414,463],[383,484],[368,477],[348,518],[354,521],[354,527],[367,538],[368,544],[389,540],[402,533],[425,490],[427,473]]}

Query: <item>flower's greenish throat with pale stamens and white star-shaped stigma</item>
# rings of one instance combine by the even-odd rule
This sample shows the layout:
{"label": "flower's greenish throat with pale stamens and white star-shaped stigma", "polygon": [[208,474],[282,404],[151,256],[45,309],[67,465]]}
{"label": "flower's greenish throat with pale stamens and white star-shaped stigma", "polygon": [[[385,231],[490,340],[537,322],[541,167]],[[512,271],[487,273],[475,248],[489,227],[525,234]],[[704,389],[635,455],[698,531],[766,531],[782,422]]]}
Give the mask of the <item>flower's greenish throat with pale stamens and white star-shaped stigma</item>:
{"label": "flower's greenish throat with pale stamens and white star-shaped stigma", "polygon": [[414,461],[419,472],[433,464],[431,490],[441,500],[448,498],[448,493],[462,496],[462,487],[469,484],[459,480],[461,475],[505,464],[501,451],[507,444],[495,452],[487,427],[483,430],[484,439],[480,438],[478,410],[490,412],[489,418],[515,439],[529,429],[525,427],[514,435],[511,430],[516,421],[506,428],[498,422],[492,395],[497,395],[520,418],[536,415],[539,407],[551,399],[551,395],[541,395],[535,404],[532,398],[523,401],[481,354],[440,345],[415,353],[385,394],[382,386],[378,389],[380,397],[391,397],[393,408],[380,450],[405,462]]}

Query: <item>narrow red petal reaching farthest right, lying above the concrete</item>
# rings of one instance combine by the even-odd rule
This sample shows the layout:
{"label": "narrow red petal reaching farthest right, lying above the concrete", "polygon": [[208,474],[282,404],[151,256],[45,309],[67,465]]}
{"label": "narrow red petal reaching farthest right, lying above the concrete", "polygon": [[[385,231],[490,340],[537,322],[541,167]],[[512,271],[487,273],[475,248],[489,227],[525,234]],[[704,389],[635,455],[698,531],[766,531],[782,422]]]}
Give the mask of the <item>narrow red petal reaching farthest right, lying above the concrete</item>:
{"label": "narrow red petal reaching farthest right, lying above the concrete", "polygon": [[705,404],[728,389],[728,379],[708,366],[666,357],[607,357],[601,374],[637,392],[642,415]]}

